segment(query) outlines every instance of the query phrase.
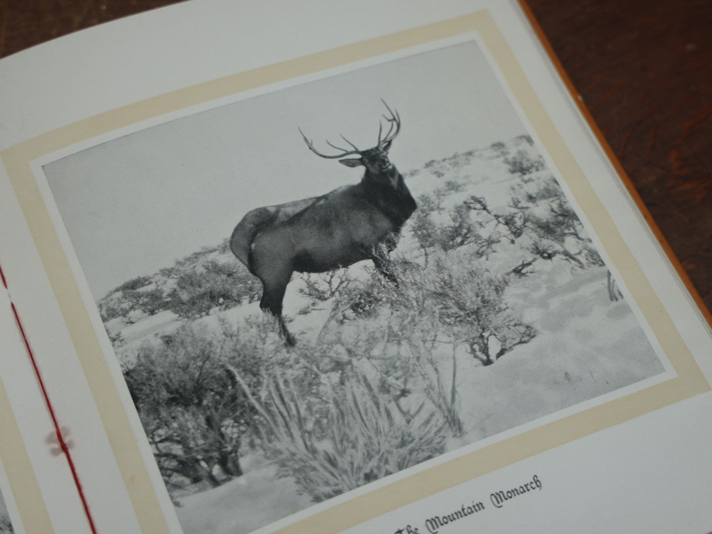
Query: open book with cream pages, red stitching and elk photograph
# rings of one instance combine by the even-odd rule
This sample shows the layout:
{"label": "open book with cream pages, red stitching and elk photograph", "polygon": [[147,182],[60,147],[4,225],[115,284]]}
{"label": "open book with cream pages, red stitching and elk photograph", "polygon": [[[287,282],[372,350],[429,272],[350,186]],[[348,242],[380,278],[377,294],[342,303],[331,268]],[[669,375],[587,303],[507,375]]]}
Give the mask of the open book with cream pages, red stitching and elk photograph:
{"label": "open book with cream pages, red stitching and elk photograph", "polygon": [[711,531],[709,324],[560,76],[496,0],[1,61],[0,533]]}

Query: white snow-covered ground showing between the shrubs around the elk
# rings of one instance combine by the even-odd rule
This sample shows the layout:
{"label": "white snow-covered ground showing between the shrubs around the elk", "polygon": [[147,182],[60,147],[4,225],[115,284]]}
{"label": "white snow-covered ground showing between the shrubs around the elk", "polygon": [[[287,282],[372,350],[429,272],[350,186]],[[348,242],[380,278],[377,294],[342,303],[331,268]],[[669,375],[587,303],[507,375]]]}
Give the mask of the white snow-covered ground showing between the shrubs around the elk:
{"label": "white snow-covered ground showing between the shrubs around the elk", "polygon": [[[431,218],[441,225],[448,223],[449,214],[457,205],[472,196],[485,198],[493,213],[525,213],[524,209],[517,211],[513,207],[513,195],[523,196],[526,188],[535,190],[538,184],[546,183],[550,173],[543,165],[533,166],[523,174],[511,173],[515,154],[525,163],[538,161],[530,142],[519,137],[507,144],[493,144],[486,149],[431,161],[422,169],[405,173],[407,185],[415,197],[428,195],[436,199],[439,207],[432,211]],[[545,213],[547,202],[551,208],[554,201],[530,200],[531,207],[527,209],[531,213],[535,210]],[[468,216],[488,215],[473,211]],[[570,237],[562,241],[565,243],[562,247],[576,253],[575,258],[566,261],[561,254],[551,258],[542,255],[536,258],[529,274],[520,277],[512,274],[511,269],[533,257],[531,250],[533,243],[539,242],[537,238],[523,235],[509,239],[503,225],[494,220],[482,223],[480,228],[491,235],[497,232],[501,237],[493,242],[488,254],[477,260],[478,265],[506,277],[508,287],[503,305],[518,314],[523,324],[533,326],[536,335],[513,346],[493,365],[483,365],[464,346],[446,346],[433,353],[442,375],[452,375],[453,358],[457,368],[455,385],[464,431],[447,441],[448,449],[477,442],[663,372],[658,356],[626,301],[610,297],[607,268],[584,260],[580,243],[587,237],[583,233],[578,236],[579,245],[569,245]],[[555,230],[558,231],[557,228],[551,231]],[[469,244],[460,249],[468,254],[466,257],[474,257],[471,252],[474,247]],[[424,262],[422,247],[408,225],[396,252],[410,262],[419,265]],[[195,265],[199,267],[207,259],[236,261],[229,252],[211,250],[202,259],[197,255]],[[350,276],[367,277],[367,267],[366,262],[350,267]],[[145,287],[170,287],[171,283],[164,274],[157,273]],[[309,343],[322,331],[333,299],[310,303],[300,292],[304,287],[304,280],[295,274],[284,304],[286,316],[292,319],[290,330]],[[120,299],[120,292],[113,293],[100,299],[99,304],[106,306]],[[150,316],[133,311],[130,321],[119,316],[105,325],[115,340],[122,365],[130,368],[140,347],[161,343],[162,336],[188,322],[205,325],[217,333],[221,321],[240,324],[246,317],[260,313],[257,302],[231,309],[216,307],[199,319],[181,319],[169,310]],[[382,316],[377,314],[370,320],[379,318]],[[367,325],[367,321],[361,324]],[[424,398],[422,392],[412,395],[416,405]],[[263,459],[259,451],[246,451],[246,456],[251,461],[243,459],[243,476],[217,488],[174,497],[187,534],[248,533],[312,503],[304,488],[283,472],[278,474],[276,466]]]}

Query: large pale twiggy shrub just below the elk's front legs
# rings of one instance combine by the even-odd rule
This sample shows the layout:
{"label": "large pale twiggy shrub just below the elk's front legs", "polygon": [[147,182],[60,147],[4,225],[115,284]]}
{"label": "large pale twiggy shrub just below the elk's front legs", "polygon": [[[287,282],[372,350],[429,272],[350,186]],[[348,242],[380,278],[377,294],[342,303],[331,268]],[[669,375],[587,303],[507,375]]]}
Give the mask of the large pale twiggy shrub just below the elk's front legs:
{"label": "large pale twiggy shrub just below the elk's front legs", "polygon": [[[376,290],[377,279],[363,284],[377,295],[370,312],[377,320],[352,326],[350,332],[360,328],[358,333],[340,341],[352,348],[353,356],[365,356],[374,365],[380,390],[391,395],[405,420],[422,409],[425,397],[451,433],[460,435],[459,348],[490,365],[531,341],[535,329],[506,304],[508,278],[476,267],[474,253],[439,251],[426,267],[396,261],[394,269],[397,287]],[[360,284],[351,287],[342,298],[343,309],[361,294]]]}

